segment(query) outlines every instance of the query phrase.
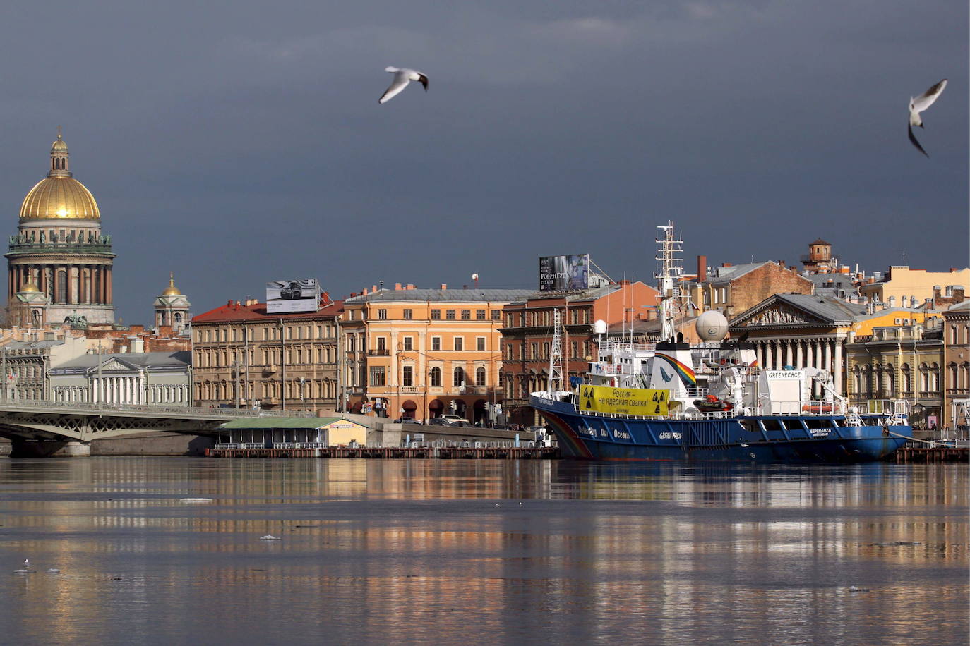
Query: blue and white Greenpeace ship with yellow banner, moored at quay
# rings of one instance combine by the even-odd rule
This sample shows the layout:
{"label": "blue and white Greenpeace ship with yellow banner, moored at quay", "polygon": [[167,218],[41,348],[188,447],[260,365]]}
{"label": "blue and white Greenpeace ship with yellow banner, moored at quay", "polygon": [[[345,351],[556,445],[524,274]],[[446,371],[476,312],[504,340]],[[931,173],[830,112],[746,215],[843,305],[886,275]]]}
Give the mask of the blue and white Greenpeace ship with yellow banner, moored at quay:
{"label": "blue and white Greenpeace ship with yellow banner, moored at quay", "polygon": [[753,344],[727,340],[727,320],[716,310],[697,318],[701,342],[684,343],[675,325],[687,298],[679,289],[683,241],[672,223],[657,231],[661,341],[613,338],[598,321],[596,360],[564,387],[554,313],[546,389],[530,393],[529,403],[564,456],[871,462],[912,440],[906,400],[850,406],[823,369],[760,366]]}

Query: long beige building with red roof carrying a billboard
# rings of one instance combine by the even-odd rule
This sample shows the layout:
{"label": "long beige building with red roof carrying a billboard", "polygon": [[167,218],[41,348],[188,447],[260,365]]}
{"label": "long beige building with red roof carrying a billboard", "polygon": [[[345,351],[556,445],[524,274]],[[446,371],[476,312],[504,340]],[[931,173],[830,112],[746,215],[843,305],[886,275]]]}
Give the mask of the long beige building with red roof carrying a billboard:
{"label": "long beige building with red roof carrying a billboard", "polygon": [[333,411],[340,307],[268,314],[265,303],[229,301],[193,318],[195,405]]}

